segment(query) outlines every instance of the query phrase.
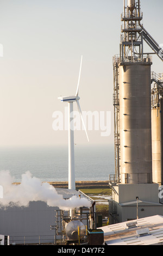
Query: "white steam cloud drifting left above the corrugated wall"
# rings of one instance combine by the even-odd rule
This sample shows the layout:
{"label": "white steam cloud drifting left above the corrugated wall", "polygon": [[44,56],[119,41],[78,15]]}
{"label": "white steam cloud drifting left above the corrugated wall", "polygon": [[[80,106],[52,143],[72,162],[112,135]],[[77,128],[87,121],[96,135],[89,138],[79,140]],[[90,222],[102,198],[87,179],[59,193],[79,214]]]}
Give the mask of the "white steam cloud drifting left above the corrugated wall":
{"label": "white steam cloud drifting left above the corrugated wall", "polygon": [[55,188],[47,182],[32,176],[30,172],[22,174],[20,185],[13,185],[14,178],[9,171],[0,172],[0,185],[3,187],[3,198],[0,199],[0,207],[25,206],[29,202],[42,201],[48,206],[57,206],[61,210],[69,210],[82,206],[90,207],[91,203],[86,198],[72,196],[65,200],[58,194]]}

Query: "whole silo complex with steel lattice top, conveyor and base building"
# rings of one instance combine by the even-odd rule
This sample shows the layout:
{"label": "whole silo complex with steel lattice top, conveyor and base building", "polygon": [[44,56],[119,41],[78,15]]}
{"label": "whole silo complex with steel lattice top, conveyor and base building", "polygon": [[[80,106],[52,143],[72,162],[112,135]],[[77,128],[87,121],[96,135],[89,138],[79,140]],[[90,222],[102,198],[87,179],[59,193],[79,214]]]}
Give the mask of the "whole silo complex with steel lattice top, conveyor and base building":
{"label": "whole silo complex with steel lattice top, conveyor and base building", "polygon": [[[163,214],[158,196],[162,185],[161,118],[157,120],[158,130],[154,127],[156,117],[160,117],[163,80],[161,75],[151,76],[151,54],[157,54],[162,61],[163,54],[141,25],[142,17],[140,0],[128,0],[127,7],[124,0],[120,54],[113,58],[115,175],[109,179],[110,224]],[[152,53],[143,52],[143,41]]]}

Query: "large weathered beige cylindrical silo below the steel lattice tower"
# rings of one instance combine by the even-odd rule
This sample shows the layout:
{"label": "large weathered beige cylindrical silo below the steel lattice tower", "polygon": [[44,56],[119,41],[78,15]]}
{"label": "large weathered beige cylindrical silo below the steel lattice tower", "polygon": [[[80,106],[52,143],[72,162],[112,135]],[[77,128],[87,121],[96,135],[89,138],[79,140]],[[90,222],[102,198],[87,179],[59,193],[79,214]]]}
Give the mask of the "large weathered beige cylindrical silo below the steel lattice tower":
{"label": "large weathered beige cylindrical silo below the steel lattice tower", "polygon": [[152,183],[151,64],[119,66],[121,183]]}

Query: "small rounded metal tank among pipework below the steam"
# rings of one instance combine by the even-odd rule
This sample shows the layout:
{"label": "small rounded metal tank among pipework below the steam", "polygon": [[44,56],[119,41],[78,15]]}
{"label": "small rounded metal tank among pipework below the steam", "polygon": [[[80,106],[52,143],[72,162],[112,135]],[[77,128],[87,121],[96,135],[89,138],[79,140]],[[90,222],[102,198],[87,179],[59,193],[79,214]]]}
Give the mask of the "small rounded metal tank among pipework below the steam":
{"label": "small rounded metal tank among pipework below the steam", "polygon": [[86,228],[82,221],[70,221],[66,227],[66,236],[69,240],[78,240],[78,227],[80,227],[80,235],[86,233]]}

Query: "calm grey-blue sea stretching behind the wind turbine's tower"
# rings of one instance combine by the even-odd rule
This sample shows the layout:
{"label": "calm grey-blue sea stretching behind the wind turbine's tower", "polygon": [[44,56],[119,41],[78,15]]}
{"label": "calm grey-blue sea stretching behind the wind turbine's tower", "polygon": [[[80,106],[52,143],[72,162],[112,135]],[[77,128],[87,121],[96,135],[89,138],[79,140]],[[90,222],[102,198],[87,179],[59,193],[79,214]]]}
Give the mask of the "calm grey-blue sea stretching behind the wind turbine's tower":
{"label": "calm grey-blue sea stretching behind the wind turbine's tower", "polygon": [[[114,145],[75,145],[76,181],[108,180],[114,174]],[[68,181],[68,146],[0,148],[0,172],[21,182],[29,171],[42,182]]]}

